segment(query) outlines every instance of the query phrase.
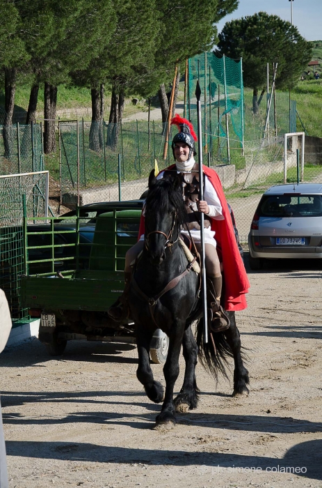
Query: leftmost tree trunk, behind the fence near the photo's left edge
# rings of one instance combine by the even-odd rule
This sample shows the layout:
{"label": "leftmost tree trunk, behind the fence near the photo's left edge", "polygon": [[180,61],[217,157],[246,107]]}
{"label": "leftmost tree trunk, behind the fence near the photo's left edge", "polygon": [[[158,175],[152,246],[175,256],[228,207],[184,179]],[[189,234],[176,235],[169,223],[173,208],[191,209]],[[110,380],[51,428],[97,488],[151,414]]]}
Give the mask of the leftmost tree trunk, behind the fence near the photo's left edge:
{"label": "leftmost tree trunk, behind the fence near the photo's left edge", "polygon": [[10,158],[13,152],[12,144],[12,128],[13,128],[13,109],[15,107],[15,68],[6,68],[4,73],[4,86],[5,86],[5,102],[4,109],[6,111],[4,123],[3,123],[3,144],[4,155],[6,158]]}

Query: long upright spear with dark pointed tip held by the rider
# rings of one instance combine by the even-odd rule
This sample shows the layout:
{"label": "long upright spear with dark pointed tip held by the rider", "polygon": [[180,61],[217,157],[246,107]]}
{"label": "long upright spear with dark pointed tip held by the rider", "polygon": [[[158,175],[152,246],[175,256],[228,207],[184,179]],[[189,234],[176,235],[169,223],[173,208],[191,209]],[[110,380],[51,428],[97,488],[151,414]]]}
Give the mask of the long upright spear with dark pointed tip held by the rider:
{"label": "long upright spear with dark pointed tip held by the rider", "polygon": [[[202,125],[201,125],[201,89],[199,80],[195,89],[197,98],[197,115],[198,115],[198,161],[199,161],[199,199],[204,199],[204,175],[202,171]],[[208,320],[207,320],[207,284],[206,284],[206,267],[204,264],[204,213],[200,212],[200,241],[201,241],[201,273],[202,273],[202,308],[204,312],[204,344],[208,342]]]}

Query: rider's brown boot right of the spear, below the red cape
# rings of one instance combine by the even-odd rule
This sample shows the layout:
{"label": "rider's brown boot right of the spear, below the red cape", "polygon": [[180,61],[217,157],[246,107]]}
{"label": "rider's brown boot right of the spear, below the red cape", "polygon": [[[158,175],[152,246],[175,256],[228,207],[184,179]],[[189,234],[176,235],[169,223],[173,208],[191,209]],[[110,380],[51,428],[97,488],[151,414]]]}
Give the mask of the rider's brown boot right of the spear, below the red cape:
{"label": "rider's brown boot right of the spear, below the red cape", "polygon": [[222,276],[207,277],[207,304],[209,312],[209,328],[211,332],[222,332],[230,328],[230,319],[220,305]]}

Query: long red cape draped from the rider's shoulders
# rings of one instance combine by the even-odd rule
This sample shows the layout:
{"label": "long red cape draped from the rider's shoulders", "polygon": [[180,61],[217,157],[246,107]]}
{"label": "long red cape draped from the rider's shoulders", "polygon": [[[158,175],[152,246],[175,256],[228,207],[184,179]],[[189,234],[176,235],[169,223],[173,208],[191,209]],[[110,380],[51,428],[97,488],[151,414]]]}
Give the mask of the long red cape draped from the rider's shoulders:
{"label": "long red cape draped from the rider's shoulders", "polygon": [[[172,165],[166,169],[173,169]],[[225,310],[238,311],[247,307],[245,293],[248,293],[250,283],[241,259],[232,218],[223,192],[223,186],[218,174],[214,169],[207,166],[202,167],[217,192],[220,204],[223,208],[225,220],[211,219],[211,230],[216,231],[217,252],[220,261],[223,263],[223,275],[225,277]],[[164,169],[162,171],[165,171]],[[141,216],[138,238],[144,234],[144,217]]]}

